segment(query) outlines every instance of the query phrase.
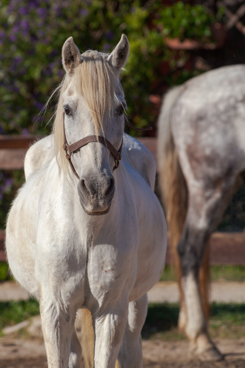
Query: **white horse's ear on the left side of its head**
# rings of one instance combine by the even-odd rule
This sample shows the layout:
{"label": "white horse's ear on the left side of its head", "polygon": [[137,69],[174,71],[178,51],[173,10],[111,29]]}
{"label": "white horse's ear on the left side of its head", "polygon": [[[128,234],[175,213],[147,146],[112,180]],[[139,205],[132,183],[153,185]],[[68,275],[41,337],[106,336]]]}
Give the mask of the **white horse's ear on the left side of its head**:
{"label": "white horse's ear on the left side of its head", "polygon": [[79,66],[81,55],[73,38],[69,37],[62,47],[62,64],[68,74],[72,74],[74,69]]}

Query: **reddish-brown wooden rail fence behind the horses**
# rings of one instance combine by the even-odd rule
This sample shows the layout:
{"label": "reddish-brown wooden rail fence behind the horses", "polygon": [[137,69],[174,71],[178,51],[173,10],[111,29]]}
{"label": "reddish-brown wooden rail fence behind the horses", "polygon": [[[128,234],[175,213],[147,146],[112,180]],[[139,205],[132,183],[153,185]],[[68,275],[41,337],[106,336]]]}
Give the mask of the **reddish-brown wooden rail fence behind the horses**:
{"label": "reddish-brown wooden rail fence behind the horses", "polygon": [[[36,139],[35,136],[0,135],[0,169],[22,169],[25,153]],[[156,160],[156,138],[138,139]],[[4,240],[5,231],[0,230],[0,261],[6,260]],[[211,264],[245,265],[245,233],[213,233],[209,243]],[[166,263],[172,263],[170,245],[167,248]]]}

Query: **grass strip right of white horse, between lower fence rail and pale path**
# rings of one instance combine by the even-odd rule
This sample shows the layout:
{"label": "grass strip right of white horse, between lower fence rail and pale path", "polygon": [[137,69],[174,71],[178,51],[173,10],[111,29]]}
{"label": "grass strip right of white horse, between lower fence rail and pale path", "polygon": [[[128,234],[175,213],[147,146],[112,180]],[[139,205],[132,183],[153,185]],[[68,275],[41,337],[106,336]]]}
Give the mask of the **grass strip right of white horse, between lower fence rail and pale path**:
{"label": "grass strip right of white horse, between lower fence rail and pale path", "polygon": [[[211,281],[245,281],[245,266],[211,266]],[[160,281],[177,281],[177,275],[172,265],[166,265]]]}

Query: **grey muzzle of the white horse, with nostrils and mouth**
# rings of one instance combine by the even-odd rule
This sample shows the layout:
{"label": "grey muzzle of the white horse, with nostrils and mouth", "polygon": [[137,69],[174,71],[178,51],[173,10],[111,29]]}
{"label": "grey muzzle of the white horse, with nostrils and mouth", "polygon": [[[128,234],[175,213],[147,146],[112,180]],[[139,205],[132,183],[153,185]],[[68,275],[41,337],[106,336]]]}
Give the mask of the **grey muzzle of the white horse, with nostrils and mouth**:
{"label": "grey muzzle of the white horse, with nostrils and mouth", "polygon": [[93,180],[83,176],[78,183],[78,194],[82,208],[88,215],[105,215],[109,212],[115,193],[115,180],[102,176]]}

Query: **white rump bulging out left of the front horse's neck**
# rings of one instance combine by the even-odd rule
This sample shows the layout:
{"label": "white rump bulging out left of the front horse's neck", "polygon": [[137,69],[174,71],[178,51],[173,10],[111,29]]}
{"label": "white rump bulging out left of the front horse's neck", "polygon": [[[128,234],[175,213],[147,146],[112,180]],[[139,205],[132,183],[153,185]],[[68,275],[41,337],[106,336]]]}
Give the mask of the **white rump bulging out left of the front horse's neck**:
{"label": "white rump bulging out left of the front horse's neck", "polygon": [[25,179],[28,178],[44,164],[54,158],[54,136],[48,135],[36,141],[25,155],[24,171]]}

